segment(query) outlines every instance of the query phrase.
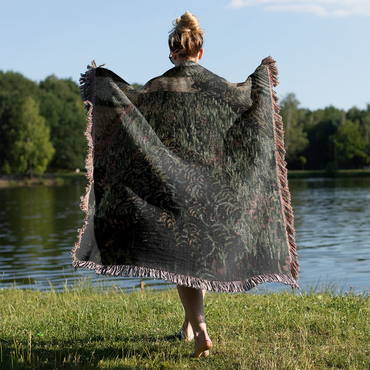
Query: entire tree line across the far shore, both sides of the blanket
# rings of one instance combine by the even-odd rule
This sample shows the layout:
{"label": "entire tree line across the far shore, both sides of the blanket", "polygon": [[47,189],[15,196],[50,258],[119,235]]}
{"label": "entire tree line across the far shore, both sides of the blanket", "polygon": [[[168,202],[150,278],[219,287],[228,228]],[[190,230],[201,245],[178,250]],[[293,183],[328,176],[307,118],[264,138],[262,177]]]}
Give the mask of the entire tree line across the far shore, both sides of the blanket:
{"label": "entire tree line across the far shore, both sides of the blanket", "polygon": [[[1,173],[32,176],[83,168],[86,111],[74,81],[51,75],[36,83],[20,73],[0,71],[0,86]],[[294,94],[280,101],[288,169],[369,165],[369,104],[347,112],[299,105]]]}

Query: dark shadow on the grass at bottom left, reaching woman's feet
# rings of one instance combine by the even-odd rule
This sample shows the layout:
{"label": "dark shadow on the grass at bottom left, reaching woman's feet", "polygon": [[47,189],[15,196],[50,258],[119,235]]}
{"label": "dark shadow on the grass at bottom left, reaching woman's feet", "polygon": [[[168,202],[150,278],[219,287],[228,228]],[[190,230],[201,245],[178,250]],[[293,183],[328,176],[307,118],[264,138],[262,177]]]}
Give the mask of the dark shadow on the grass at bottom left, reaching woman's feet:
{"label": "dark shadow on the grass at bottom left, reaching woman's feet", "polygon": [[[125,337],[102,336],[86,339],[64,339],[59,344],[54,341],[38,341],[31,345],[1,341],[3,355],[2,369],[91,369],[100,361],[109,363],[109,369],[136,369],[122,363],[146,361],[149,369],[160,368],[165,359],[158,356],[166,353],[172,361],[188,357],[177,350],[182,343],[176,335],[153,336],[137,334]],[[175,348],[175,349],[174,349]],[[189,352],[190,354],[190,352]],[[167,357],[167,356],[166,356]],[[4,366],[4,367],[3,367]],[[157,367],[156,367],[157,366]]]}

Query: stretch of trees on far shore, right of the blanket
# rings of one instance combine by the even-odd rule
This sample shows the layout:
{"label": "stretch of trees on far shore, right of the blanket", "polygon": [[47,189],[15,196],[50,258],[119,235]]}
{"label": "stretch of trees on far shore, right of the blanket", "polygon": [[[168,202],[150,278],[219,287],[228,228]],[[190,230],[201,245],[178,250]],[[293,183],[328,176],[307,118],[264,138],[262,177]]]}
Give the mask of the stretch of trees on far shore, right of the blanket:
{"label": "stretch of trees on far shore, right of the blanket", "polygon": [[369,165],[370,104],[347,112],[299,108],[294,94],[280,102],[288,169],[357,169]]}

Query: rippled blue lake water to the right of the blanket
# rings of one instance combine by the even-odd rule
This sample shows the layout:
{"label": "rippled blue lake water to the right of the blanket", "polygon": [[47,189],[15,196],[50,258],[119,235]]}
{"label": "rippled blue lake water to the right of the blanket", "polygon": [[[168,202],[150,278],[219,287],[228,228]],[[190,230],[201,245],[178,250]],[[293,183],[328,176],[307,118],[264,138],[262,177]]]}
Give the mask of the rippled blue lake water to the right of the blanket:
{"label": "rippled blue lake water to the right of the blanket", "polygon": [[292,179],[289,186],[301,285],[347,281],[347,290],[369,289],[369,178]]}

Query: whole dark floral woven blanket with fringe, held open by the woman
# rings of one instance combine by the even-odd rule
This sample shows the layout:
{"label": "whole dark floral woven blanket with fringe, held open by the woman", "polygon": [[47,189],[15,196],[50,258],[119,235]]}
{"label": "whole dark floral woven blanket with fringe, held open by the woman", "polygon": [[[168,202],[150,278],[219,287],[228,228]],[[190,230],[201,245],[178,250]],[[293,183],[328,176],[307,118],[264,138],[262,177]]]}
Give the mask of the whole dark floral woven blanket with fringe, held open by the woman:
{"label": "whole dark floral woven blanket with fringe, held open by the woman", "polygon": [[277,69],[233,84],[187,60],[136,90],[81,75],[89,183],[74,268],[243,292],[299,289]]}

